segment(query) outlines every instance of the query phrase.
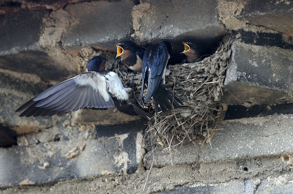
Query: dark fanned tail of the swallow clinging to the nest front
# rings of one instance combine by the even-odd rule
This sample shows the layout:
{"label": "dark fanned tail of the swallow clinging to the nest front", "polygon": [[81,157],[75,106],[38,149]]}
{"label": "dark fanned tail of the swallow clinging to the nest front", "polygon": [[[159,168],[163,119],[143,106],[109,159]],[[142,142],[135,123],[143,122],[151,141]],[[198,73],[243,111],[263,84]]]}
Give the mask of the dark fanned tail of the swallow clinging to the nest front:
{"label": "dark fanned tail of the swallow clinging to the nest front", "polygon": [[160,85],[158,90],[153,95],[155,111],[156,112],[167,112],[168,109],[180,108],[180,104],[183,105],[183,102],[173,95],[165,86]]}

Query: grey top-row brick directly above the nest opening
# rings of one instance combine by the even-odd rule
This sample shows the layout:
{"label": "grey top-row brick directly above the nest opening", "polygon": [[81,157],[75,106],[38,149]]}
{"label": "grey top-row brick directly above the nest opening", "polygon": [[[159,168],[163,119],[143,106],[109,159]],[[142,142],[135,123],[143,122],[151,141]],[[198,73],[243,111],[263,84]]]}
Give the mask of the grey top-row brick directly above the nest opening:
{"label": "grey top-row brick directly above the nest opening", "polygon": [[132,14],[133,37],[137,41],[197,41],[205,48],[226,33],[218,19],[217,1],[143,0],[140,3]]}

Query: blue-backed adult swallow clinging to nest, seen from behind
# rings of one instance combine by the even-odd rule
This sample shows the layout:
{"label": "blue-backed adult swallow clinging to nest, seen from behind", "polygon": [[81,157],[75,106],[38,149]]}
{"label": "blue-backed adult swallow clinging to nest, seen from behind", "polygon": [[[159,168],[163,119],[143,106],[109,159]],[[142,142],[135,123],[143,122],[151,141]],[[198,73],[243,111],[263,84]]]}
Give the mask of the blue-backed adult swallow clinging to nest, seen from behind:
{"label": "blue-backed adult swallow clinging to nest, seen from behind", "polygon": [[144,86],[147,83],[147,94],[144,102],[146,103],[153,97],[157,113],[160,111],[167,112],[168,109],[180,108],[180,104],[183,105],[180,99],[165,87],[166,65],[171,51],[172,46],[169,42],[159,42],[147,48],[143,58],[140,102],[142,104]]}

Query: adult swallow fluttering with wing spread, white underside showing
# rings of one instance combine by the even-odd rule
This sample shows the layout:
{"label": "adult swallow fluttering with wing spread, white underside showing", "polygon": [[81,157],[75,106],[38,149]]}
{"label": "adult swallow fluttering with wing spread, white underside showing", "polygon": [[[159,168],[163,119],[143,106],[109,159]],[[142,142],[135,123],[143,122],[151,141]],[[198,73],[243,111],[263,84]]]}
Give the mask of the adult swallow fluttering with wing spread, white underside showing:
{"label": "adult swallow fluttering with wing spread, white underside showing", "polygon": [[88,61],[88,72],[60,82],[19,107],[19,117],[62,115],[78,109],[108,109],[149,118],[148,114],[128,100],[131,88],[125,88],[118,75],[105,70],[106,58],[96,56]]}

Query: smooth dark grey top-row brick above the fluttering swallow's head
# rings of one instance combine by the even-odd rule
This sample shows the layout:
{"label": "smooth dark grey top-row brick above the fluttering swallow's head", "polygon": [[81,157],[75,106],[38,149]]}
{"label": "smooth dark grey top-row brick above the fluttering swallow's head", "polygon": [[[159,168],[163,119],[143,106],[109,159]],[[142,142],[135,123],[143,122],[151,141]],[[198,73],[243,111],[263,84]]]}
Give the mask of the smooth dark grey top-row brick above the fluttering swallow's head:
{"label": "smooth dark grey top-row brick above the fluttering swallow's head", "polygon": [[92,1],[66,6],[76,21],[62,38],[71,53],[80,48],[113,48],[114,43],[129,39],[132,33],[132,1]]}

